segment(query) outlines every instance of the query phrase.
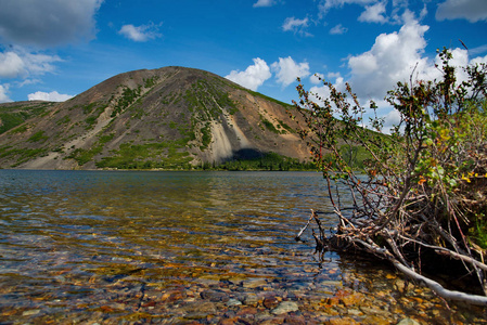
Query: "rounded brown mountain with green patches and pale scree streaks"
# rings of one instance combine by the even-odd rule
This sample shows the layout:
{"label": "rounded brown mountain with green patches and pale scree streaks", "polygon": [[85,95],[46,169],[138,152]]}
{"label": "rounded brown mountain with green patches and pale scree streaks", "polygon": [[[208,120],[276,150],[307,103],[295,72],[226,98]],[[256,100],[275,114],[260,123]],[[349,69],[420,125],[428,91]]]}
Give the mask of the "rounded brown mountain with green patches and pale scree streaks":
{"label": "rounded brown mountain with green patches and pale scree streaks", "polygon": [[289,105],[208,72],[112,77],[63,103],[0,105],[0,168],[180,168],[274,153],[305,160]]}

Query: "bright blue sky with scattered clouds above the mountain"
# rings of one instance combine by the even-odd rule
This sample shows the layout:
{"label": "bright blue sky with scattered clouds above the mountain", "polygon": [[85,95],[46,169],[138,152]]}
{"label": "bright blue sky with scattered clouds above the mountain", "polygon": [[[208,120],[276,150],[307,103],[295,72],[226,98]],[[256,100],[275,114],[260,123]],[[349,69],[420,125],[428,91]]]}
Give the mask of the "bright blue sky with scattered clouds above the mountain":
{"label": "bright blue sky with scattered clouds above the mountain", "polygon": [[438,78],[444,47],[454,64],[487,62],[487,0],[0,0],[0,103],[184,66],[285,103],[297,77],[317,94],[317,76],[349,82],[387,123],[387,91]]}

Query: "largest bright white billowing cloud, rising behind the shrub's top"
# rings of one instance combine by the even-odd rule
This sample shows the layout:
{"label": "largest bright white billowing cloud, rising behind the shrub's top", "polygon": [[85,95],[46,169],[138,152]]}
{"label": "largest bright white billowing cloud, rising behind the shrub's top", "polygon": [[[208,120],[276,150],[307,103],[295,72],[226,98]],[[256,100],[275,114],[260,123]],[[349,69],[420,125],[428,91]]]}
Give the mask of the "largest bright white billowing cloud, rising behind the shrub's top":
{"label": "largest bright white billowing cloud, rising behind the shrub's top", "polygon": [[[399,31],[381,34],[376,37],[372,48],[361,54],[348,58],[350,78],[347,80],[351,90],[357,93],[359,101],[366,104],[374,100],[380,108],[390,109],[384,101],[387,91],[393,90],[398,81],[410,82],[418,80],[441,79],[441,60],[437,55],[430,60],[424,55],[426,48],[425,32],[428,26],[420,25],[418,21],[403,15],[407,23]],[[470,52],[464,49],[450,50],[453,58],[449,62],[451,66],[464,67],[469,64],[487,63],[487,55],[469,57]],[[457,69],[458,83],[466,80],[467,75],[461,68]],[[337,77],[334,86],[343,91],[344,79]],[[323,87],[311,88],[316,93],[325,94]],[[383,114],[386,126],[395,121],[395,113]]]}

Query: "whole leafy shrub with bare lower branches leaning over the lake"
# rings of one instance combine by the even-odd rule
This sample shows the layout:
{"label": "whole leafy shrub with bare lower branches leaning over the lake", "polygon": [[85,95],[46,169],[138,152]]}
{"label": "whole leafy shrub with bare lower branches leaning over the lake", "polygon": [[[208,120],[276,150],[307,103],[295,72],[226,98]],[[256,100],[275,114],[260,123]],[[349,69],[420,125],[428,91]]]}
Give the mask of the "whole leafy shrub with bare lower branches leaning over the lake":
{"label": "whole leafy shrub with bare lower branches leaning over the lake", "polygon": [[[349,84],[341,92],[323,80],[325,99],[297,87],[295,107],[306,119],[299,133],[308,139],[339,217],[328,237],[318,223],[316,239],[319,248],[373,252],[426,284],[420,273],[428,261],[459,259],[477,280],[475,292],[486,295],[487,67],[460,67],[467,79],[459,82],[450,52],[444,49],[439,57],[440,80],[414,80],[413,72],[409,82],[388,92],[386,101],[400,116],[390,135],[383,133],[376,104],[362,106]],[[353,166],[344,146],[360,147],[369,159]],[[338,185],[349,188],[351,210],[333,191]],[[310,220],[318,220],[312,214]],[[485,297],[469,300],[440,288],[436,291],[446,298],[487,304]]]}

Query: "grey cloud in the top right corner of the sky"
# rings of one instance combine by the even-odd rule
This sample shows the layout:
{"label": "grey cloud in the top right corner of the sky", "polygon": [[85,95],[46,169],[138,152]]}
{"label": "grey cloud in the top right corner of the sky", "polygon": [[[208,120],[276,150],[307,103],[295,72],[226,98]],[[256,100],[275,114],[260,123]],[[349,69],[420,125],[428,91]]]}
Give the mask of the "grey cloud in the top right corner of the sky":
{"label": "grey cloud in the top right corner of the sky", "polygon": [[471,23],[487,21],[486,0],[446,0],[438,4],[436,20],[467,20]]}

